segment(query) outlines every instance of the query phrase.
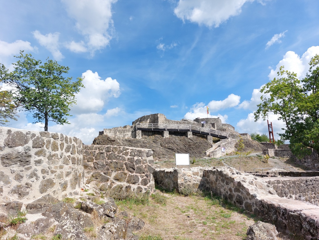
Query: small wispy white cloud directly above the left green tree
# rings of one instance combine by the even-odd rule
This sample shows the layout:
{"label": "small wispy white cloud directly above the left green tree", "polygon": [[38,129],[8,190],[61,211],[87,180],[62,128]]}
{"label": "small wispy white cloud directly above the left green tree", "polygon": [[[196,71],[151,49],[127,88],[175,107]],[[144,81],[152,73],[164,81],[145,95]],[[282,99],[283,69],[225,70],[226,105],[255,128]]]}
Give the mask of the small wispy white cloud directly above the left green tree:
{"label": "small wispy white cloud directly above the left green tree", "polygon": [[33,36],[41,46],[47,48],[57,61],[62,60],[64,56],[59,50],[59,35],[60,33],[41,34],[38,30],[33,32]]}

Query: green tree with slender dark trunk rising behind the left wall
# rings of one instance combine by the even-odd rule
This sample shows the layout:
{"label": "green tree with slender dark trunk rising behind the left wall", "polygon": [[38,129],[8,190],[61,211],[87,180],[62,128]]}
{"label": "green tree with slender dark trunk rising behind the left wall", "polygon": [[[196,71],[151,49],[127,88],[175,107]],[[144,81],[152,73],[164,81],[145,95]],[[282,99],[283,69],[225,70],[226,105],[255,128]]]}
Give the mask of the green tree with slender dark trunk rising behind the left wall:
{"label": "green tree with slender dark trunk rising behind the left wall", "polygon": [[15,100],[32,113],[33,123],[44,121],[44,131],[48,131],[48,121],[57,124],[69,123],[65,116],[70,116],[69,106],[76,102],[75,94],[83,87],[82,79],[72,81],[72,77],[64,77],[68,67],[47,59],[42,64],[31,54],[16,56],[19,60],[13,63],[14,70],[0,68],[1,80],[17,89],[13,95]]}

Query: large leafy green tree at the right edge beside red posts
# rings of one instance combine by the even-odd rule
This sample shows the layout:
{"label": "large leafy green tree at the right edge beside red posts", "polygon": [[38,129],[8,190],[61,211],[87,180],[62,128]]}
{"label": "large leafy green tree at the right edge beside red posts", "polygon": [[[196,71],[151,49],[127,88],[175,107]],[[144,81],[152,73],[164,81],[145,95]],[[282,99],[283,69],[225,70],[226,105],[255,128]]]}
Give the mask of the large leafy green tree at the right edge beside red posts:
{"label": "large leafy green tree at the right edge beside red posts", "polygon": [[255,121],[265,120],[272,112],[285,122],[285,132],[279,135],[290,141],[290,149],[299,158],[311,154],[312,149],[319,150],[319,55],[309,65],[301,82],[295,73],[280,67],[278,78],[260,90],[263,102],[255,112]]}

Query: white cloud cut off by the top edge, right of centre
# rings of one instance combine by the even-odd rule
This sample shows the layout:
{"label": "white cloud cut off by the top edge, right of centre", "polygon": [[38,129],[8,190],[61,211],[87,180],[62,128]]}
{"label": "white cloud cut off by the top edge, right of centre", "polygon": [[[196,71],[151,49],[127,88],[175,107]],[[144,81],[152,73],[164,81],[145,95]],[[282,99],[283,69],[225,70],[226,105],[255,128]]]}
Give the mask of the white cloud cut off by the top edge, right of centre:
{"label": "white cloud cut off by the top edge, right of centre", "polygon": [[179,0],[174,13],[183,21],[218,27],[228,18],[241,13],[246,2],[254,0]]}

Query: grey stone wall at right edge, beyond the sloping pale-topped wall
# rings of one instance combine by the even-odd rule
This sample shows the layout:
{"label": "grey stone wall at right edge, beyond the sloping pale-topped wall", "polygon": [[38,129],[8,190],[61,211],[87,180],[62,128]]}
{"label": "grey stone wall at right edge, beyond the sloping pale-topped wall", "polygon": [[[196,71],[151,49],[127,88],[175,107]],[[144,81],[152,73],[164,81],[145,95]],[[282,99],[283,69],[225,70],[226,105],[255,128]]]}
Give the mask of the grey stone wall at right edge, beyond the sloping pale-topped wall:
{"label": "grey stone wall at right edge, beyond the sloping pale-topped wall", "polygon": [[279,197],[306,201],[319,206],[319,177],[263,178]]}

